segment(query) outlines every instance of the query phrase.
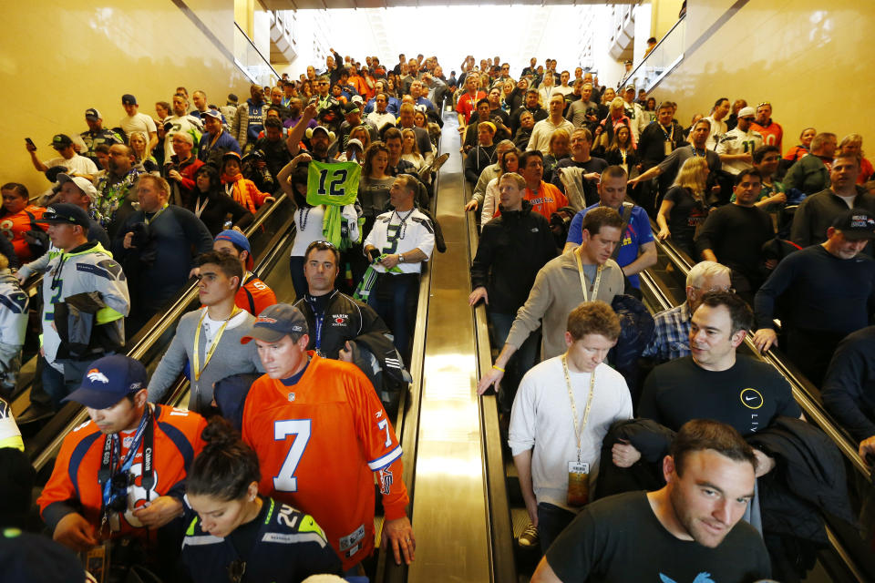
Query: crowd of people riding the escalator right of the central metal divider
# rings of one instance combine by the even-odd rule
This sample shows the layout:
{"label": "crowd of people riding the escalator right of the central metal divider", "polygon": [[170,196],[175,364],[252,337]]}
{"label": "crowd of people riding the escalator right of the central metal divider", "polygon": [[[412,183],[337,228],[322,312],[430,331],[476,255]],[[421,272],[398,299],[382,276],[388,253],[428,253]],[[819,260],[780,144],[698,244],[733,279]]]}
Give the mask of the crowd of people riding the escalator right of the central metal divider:
{"label": "crowd of people riding the escalator right of the central metal divider", "polygon": [[[875,376],[864,353],[875,330],[875,182],[860,135],[839,142],[806,128],[787,149],[768,102],[721,97],[684,128],[674,102],[657,104],[623,83],[618,92],[601,87],[581,68],[572,77],[555,61],[532,59],[515,79],[506,64],[472,65],[463,64],[456,106],[471,193],[465,208],[482,226],[469,302],[486,303],[497,354],[479,393],[498,390],[530,517],[519,544],[546,554],[533,580],[626,580],[657,569],[665,580],[692,580],[703,572],[680,570],[663,558],[674,551],[658,545],[642,558],[638,551],[660,537],[625,536],[643,527],[628,522],[632,515],[621,520],[615,499],[584,507],[636,486],[674,490],[686,476],[672,475],[670,455],[663,465],[666,435],[680,438],[697,419],[727,424],[754,445],[757,478],[781,488],[804,480],[808,491],[794,496],[820,510],[828,506],[810,491],[831,488],[835,507],[853,520],[838,450],[802,424],[783,377],[736,350],[747,332],[764,352],[779,338],[860,441],[860,456],[872,453]],[[685,302],[651,319],[635,298],[638,274],[657,261],[655,240],[671,241],[695,267]],[[795,454],[771,441],[776,432],[829,459],[840,479],[822,479],[814,467],[793,475]],[[745,457],[714,449],[750,471]],[[769,569],[798,580],[823,543],[822,520],[814,518],[817,536],[801,536],[787,525],[810,514],[778,508],[783,493],[757,484],[756,496],[730,503],[729,485],[712,482],[719,511],[702,508],[680,528],[664,519],[671,511],[659,496],[648,496],[669,532],[727,553],[686,551],[709,557],[715,580],[755,580]],[[667,497],[693,504],[678,490]],[[674,508],[685,512],[691,507]],[[770,521],[778,512],[784,526]],[[732,557],[728,537],[707,542],[722,533],[719,542],[742,515],[771,557],[748,555],[744,575],[732,574],[741,555]],[[616,521],[622,537],[610,530]],[[662,570],[666,563],[678,570]]]}

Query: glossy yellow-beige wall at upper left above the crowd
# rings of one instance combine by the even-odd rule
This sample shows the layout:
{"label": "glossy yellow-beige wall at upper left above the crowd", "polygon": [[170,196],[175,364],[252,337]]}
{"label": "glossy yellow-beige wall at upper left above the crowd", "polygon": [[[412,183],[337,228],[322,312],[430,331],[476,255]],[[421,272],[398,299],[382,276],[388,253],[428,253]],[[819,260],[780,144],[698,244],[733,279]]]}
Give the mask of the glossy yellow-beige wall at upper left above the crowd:
{"label": "glossy yellow-beige wall at upper left above the crowd", "polygon": [[[187,5],[232,51],[233,0],[187,0]],[[23,182],[33,193],[49,183],[31,165],[24,138],[34,140],[40,159],[54,158],[48,147],[52,136],[88,129],[88,107],[97,107],[104,126],[114,127],[125,115],[124,93],[134,94],[140,112],[153,117],[154,103],[170,101],[179,85],[189,93],[205,91],[220,106],[230,92],[249,96],[239,69],[170,0],[99,7],[53,0],[7,3],[4,19],[0,180]]]}

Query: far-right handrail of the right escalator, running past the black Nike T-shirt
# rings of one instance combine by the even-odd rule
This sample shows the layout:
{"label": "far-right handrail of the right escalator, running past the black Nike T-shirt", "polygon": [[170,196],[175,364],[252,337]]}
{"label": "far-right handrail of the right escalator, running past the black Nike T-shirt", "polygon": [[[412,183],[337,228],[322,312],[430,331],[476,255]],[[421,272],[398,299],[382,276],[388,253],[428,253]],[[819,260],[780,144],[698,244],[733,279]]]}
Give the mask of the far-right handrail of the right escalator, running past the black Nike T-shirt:
{"label": "far-right handrail of the right escalator, running past the black Nike T-shirt", "polygon": [[[654,224],[653,220],[651,220],[651,224]],[[692,269],[689,256],[685,252],[678,250],[671,241],[661,241],[654,238],[654,242],[656,243],[657,248],[661,249],[669,261],[671,261],[672,264],[681,271],[684,277],[686,277]],[[798,371],[795,365],[788,363],[787,358],[783,357],[783,355],[776,350],[769,349],[766,353],[760,353],[754,345],[753,339],[753,332],[748,331],[745,343],[751,353],[755,354],[759,359],[770,363],[776,368],[778,373],[781,373],[784,378],[787,379],[787,382],[792,389],[793,396],[805,412],[806,418],[814,421],[824,433],[829,435],[829,438],[839,447],[842,454],[849,459],[851,465],[853,465],[862,476],[871,482],[871,468],[866,464],[865,460],[860,457],[857,444],[850,439],[850,436],[845,431],[839,428],[839,424],[837,424],[823,406],[812,397],[813,394],[816,394],[816,388],[814,385]]]}

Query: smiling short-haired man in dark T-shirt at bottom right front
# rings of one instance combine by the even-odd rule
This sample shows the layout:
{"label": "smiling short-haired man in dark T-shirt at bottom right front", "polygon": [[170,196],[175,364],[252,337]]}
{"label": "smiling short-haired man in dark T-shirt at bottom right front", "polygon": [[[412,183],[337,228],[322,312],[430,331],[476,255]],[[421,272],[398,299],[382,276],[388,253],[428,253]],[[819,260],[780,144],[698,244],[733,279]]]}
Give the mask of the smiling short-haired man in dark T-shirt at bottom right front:
{"label": "smiling short-haired man in dark T-shirt at bottom right front", "polygon": [[741,520],[757,459],[726,424],[695,420],[663,460],[666,485],[587,506],[540,560],[533,583],[754,581],[770,575],[762,537]]}

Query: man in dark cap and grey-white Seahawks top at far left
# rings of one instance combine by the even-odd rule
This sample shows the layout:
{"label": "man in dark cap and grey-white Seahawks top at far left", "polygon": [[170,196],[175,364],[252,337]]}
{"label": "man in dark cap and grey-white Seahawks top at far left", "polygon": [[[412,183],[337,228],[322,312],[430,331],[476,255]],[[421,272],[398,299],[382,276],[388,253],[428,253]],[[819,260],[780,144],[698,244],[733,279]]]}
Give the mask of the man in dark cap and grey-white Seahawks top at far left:
{"label": "man in dark cap and grey-white Seahawks top at far left", "polygon": [[37,222],[48,224],[48,237],[60,250],[43,278],[40,349],[47,364],[43,386],[57,409],[88,363],[124,345],[130,296],[121,266],[98,241],[88,240],[91,220],[85,210],[52,204]]}

